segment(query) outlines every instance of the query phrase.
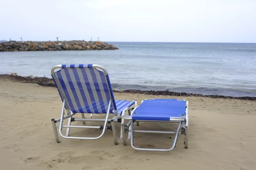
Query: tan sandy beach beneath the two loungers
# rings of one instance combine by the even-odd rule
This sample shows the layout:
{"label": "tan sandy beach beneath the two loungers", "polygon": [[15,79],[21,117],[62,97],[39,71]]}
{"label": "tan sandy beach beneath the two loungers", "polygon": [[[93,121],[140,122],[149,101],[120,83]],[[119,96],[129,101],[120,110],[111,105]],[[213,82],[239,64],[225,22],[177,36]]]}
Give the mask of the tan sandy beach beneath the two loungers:
{"label": "tan sandy beach beneath the two loungers", "polygon": [[[176,97],[115,93],[115,98],[137,100],[140,104],[145,98]],[[62,107],[57,89],[0,80],[0,169],[256,169],[256,101],[183,99],[189,101],[188,149],[184,149],[184,135],[179,135],[175,149],[169,152],[137,151],[129,140],[127,146],[122,141],[115,145],[110,130],[98,140],[61,138],[58,144],[51,124],[51,118],[60,117]],[[119,134],[119,124],[116,126]],[[167,127],[174,129],[176,124],[140,123],[143,130]],[[94,129],[70,130],[70,135],[100,133]],[[134,138],[136,146],[168,148],[173,135],[135,133]]]}

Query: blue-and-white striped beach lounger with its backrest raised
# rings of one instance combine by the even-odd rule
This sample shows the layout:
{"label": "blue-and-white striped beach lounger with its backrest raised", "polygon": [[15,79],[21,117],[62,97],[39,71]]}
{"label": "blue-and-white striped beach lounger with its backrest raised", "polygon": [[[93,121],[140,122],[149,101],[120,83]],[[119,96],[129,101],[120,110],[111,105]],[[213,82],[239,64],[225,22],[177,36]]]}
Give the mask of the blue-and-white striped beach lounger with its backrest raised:
{"label": "blue-and-white striped beach lounger with its backrest raised", "polygon": [[[118,144],[115,122],[121,122],[121,116],[128,111],[131,114],[132,106],[137,107],[137,101],[115,100],[107,70],[96,64],[71,64],[57,65],[51,70],[52,78],[58,89],[63,102],[61,118],[52,119],[53,131],[56,141],[61,140],[58,132],[63,138],[69,139],[98,139],[102,137],[106,129],[113,131],[115,144]],[[67,115],[64,116],[65,110]],[[73,118],[75,114],[81,114],[82,118]],[[85,118],[84,114],[90,114]],[[93,118],[93,114],[105,114],[105,118]],[[109,115],[113,115],[109,118]],[[111,116],[110,116],[111,117]],[[67,125],[63,121],[68,119]],[[71,122],[82,121],[81,125],[71,125]],[[104,122],[100,126],[86,126],[86,121]],[[59,125],[56,123],[59,122]],[[107,127],[107,124],[111,126]],[[121,125],[120,125],[121,126]],[[57,131],[58,127],[58,131]],[[61,133],[62,128],[67,128],[66,134]],[[93,128],[102,130],[97,137],[75,137],[69,136],[70,128]],[[122,132],[120,134],[120,140]]]}

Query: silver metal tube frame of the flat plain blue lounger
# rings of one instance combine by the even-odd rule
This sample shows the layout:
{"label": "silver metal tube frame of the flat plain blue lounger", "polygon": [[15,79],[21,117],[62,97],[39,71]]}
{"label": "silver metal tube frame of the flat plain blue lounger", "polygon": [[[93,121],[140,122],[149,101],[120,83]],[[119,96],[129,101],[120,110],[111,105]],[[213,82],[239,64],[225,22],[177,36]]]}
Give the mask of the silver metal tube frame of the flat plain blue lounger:
{"label": "silver metal tube frame of the flat plain blue lounger", "polygon": [[[151,99],[146,99],[146,100],[151,100]],[[178,99],[178,100],[183,100],[183,99]],[[185,100],[183,100],[185,101]],[[142,101],[143,102],[143,101]],[[132,120],[132,115],[134,114],[134,111],[137,109],[137,107],[135,107],[132,112],[131,115],[122,115],[122,122],[121,122],[121,132],[122,132],[122,137],[123,137],[123,144],[127,145],[127,141],[126,141],[126,132],[128,132],[128,139],[130,139],[131,137],[131,147],[134,148],[135,150],[147,150],[147,151],[170,151],[173,148],[175,148],[176,142],[177,142],[177,137],[178,134],[183,134],[185,135],[185,148],[188,148],[188,127],[189,127],[189,115],[188,115],[188,109],[189,109],[189,103],[188,101],[186,101],[186,110],[185,110],[185,115],[184,118],[170,118],[170,121],[144,121],[144,120],[140,120],[143,122],[168,122],[168,123],[178,123],[177,126],[177,130],[176,132],[168,132],[168,131],[152,131],[152,130],[134,130],[133,128],[133,122],[136,120]],[[128,123],[125,125],[124,124],[124,119],[128,119]],[[138,121],[137,121],[138,122]],[[181,130],[183,130],[182,132],[180,131],[180,126],[181,126]],[[129,129],[128,129],[129,128]],[[134,132],[137,133],[175,133],[175,139],[173,141],[172,147],[170,149],[148,149],[148,148],[137,148],[134,147]]]}

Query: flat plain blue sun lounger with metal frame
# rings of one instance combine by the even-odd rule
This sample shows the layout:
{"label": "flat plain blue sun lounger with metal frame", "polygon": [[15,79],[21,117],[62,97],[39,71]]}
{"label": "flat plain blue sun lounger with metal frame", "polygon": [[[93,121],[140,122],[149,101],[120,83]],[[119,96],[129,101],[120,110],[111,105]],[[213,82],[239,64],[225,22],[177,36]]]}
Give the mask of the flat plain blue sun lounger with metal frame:
{"label": "flat plain blue sun lounger with metal frame", "polygon": [[[151,150],[151,151],[170,151],[175,148],[178,134],[185,135],[185,148],[188,147],[188,115],[189,104],[188,101],[179,99],[146,99],[142,101],[139,107],[135,107],[131,115],[122,115],[122,137],[124,145],[126,142],[126,133],[128,132],[128,139],[131,138],[131,147],[136,150]],[[128,124],[124,124],[124,120],[128,119]],[[153,131],[153,130],[134,130],[133,123],[137,121],[142,122],[172,122],[178,123],[177,130],[169,131]],[[181,129],[180,129],[181,127]],[[175,133],[172,147],[170,149],[149,149],[134,147],[134,132],[137,133]]]}

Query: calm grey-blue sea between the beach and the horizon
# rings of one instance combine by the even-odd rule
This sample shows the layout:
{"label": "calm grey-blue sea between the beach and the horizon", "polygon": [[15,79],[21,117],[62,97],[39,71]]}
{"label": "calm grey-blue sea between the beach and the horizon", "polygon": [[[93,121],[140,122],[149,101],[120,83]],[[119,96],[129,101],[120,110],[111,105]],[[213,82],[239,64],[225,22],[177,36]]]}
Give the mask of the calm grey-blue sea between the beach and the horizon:
{"label": "calm grey-blue sea between the beach and the horizon", "polygon": [[112,44],[119,50],[0,52],[0,74],[51,78],[57,64],[92,63],[108,70],[113,89],[256,97],[256,43]]}

